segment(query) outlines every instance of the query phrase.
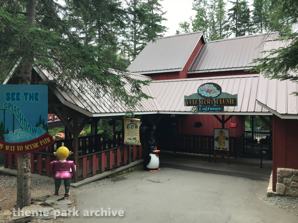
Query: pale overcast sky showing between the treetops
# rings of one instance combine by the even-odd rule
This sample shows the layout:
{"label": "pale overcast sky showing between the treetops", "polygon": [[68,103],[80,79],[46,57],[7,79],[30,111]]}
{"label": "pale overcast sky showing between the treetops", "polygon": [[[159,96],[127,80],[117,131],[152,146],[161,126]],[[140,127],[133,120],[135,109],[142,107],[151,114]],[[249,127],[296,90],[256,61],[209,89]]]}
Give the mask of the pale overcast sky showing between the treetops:
{"label": "pale overcast sky showing between the treetops", "polygon": [[[226,10],[231,8],[232,4],[228,1]],[[253,0],[249,0],[249,5],[252,4]],[[192,10],[193,0],[163,0],[160,1],[163,7],[163,11],[167,11],[164,15],[167,21],[163,21],[162,25],[167,26],[169,29],[165,33],[165,36],[176,34],[176,29],[179,28],[179,22],[189,20],[190,16],[195,15],[195,11]],[[250,7],[252,10],[252,7]]]}

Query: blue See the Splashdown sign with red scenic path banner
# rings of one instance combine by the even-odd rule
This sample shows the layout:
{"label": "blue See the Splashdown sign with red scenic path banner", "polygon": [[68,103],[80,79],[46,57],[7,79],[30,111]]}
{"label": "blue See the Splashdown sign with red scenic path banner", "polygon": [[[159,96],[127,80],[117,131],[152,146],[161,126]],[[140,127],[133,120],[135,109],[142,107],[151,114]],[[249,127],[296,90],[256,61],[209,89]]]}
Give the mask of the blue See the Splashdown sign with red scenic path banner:
{"label": "blue See the Splashdown sign with red scenic path banner", "polygon": [[49,147],[46,85],[0,85],[0,152],[33,153]]}

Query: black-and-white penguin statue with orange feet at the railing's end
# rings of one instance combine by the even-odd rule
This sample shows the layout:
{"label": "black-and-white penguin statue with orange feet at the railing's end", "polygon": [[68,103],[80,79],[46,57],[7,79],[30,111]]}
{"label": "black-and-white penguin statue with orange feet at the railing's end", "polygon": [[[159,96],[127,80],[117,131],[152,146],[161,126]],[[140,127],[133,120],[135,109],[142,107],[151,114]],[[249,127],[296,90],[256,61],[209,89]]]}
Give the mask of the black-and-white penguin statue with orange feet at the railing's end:
{"label": "black-and-white penguin statue with orange feet at the railing's end", "polygon": [[148,151],[145,156],[144,164],[148,170],[158,170],[159,168],[159,157],[157,153],[160,150],[157,150],[156,140],[154,139],[153,132],[150,132],[148,139]]}

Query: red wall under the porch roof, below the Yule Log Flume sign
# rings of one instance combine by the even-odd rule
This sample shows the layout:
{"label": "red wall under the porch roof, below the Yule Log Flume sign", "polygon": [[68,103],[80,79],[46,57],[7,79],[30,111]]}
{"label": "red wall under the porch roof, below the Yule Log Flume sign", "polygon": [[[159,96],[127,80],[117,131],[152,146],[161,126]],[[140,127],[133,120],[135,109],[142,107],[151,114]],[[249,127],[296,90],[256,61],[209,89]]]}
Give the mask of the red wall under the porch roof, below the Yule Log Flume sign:
{"label": "red wall under the porch roof, below the Yule Log Flume sign", "polygon": [[[221,114],[218,114],[221,118]],[[229,115],[225,115],[225,119]],[[204,135],[204,136],[213,136],[214,128],[221,128],[221,123],[213,115],[197,115],[189,114],[181,117],[181,134],[190,134],[190,135]],[[195,122],[201,122],[203,126],[201,128],[195,128],[193,125]],[[230,128],[230,123],[237,123],[237,128]],[[236,137],[240,134],[244,134],[244,115],[234,115],[226,124],[225,128],[230,129],[230,136]]]}

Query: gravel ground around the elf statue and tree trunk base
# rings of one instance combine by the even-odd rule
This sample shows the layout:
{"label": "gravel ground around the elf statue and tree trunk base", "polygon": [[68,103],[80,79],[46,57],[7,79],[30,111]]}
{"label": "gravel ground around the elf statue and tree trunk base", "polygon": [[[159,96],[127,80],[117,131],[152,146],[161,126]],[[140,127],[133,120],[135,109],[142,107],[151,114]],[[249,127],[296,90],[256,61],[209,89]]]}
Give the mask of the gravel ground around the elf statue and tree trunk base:
{"label": "gravel ground around the elf statue and tree trunk base", "polygon": [[[74,208],[76,205],[76,195],[82,190],[98,187],[98,186],[105,186],[108,183],[114,182],[114,178],[108,178],[104,180],[97,180],[88,184],[85,184],[78,188],[70,188],[70,196],[67,198],[68,200],[72,201],[71,208]],[[12,210],[14,204],[16,203],[16,177],[12,176],[2,176],[0,175],[0,199],[6,197],[7,199],[2,201],[2,210]],[[46,194],[54,194],[55,187],[54,181],[49,179],[41,179],[41,178],[31,178],[31,196],[33,198],[42,197]],[[60,186],[60,194],[64,194],[64,183],[61,182]],[[62,223],[68,217],[58,217],[56,219],[33,219],[32,223],[39,223],[39,222],[48,222],[48,223]],[[6,223],[6,219],[0,219],[0,223]]]}

